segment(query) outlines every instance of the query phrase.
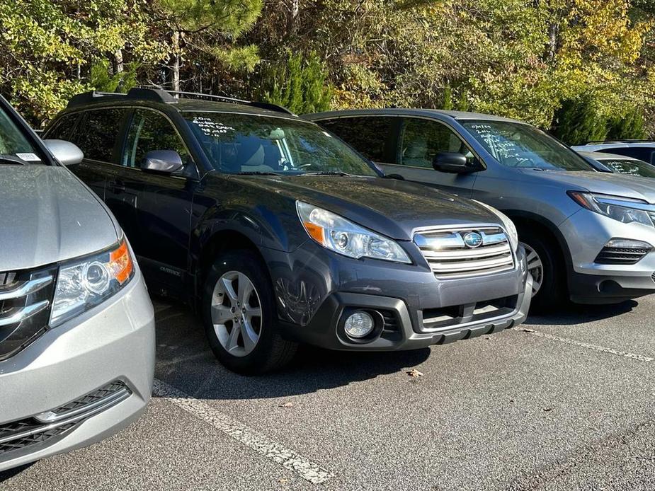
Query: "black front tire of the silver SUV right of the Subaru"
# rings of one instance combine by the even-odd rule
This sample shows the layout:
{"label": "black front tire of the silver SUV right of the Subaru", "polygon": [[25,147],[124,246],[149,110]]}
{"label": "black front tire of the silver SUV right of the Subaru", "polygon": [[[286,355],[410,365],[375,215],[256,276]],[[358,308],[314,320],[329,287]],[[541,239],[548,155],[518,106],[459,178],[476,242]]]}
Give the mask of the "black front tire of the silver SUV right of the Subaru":
{"label": "black front tire of the silver SUV right of the Subaru", "polygon": [[518,240],[535,250],[542,262],[542,282],[539,290],[532,296],[530,311],[549,313],[554,309],[561,309],[566,304],[568,294],[564,258],[557,241],[538,229],[528,227],[518,230]]}

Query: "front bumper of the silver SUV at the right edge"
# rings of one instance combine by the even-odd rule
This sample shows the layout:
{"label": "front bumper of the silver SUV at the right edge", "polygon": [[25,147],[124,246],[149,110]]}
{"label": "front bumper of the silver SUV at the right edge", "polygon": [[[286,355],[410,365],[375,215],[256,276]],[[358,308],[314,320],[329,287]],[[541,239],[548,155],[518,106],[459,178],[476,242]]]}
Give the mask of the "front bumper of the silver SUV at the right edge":
{"label": "front bumper of the silver SUV at the right edge", "polygon": [[[571,301],[581,304],[617,303],[655,293],[655,229],[623,224],[581,209],[559,226],[569,246],[568,286]],[[598,264],[594,260],[613,238],[644,241],[654,246],[632,265]]]}

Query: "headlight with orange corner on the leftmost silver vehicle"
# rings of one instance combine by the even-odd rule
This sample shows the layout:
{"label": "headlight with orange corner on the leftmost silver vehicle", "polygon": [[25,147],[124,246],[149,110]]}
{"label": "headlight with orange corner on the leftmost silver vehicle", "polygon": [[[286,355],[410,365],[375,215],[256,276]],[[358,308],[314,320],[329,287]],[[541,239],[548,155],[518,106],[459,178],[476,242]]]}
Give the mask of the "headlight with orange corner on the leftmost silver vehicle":
{"label": "headlight with orange corner on the leftmost silver vehicle", "polygon": [[101,304],[134,276],[134,262],[127,241],[102,253],[86,256],[59,267],[50,326],[55,327]]}

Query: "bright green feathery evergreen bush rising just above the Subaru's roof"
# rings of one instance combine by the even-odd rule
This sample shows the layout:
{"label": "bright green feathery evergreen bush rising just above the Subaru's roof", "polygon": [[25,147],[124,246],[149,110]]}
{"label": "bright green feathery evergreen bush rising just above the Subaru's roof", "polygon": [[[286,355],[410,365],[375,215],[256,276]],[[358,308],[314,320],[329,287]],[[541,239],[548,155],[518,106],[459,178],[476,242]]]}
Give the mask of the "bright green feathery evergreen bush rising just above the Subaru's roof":
{"label": "bright green feathery evergreen bush rising just above the Subaru's roof", "polygon": [[266,102],[283,105],[297,114],[329,109],[332,88],[327,83],[325,64],[316,52],[307,58],[289,53],[285,64],[270,67],[263,74]]}

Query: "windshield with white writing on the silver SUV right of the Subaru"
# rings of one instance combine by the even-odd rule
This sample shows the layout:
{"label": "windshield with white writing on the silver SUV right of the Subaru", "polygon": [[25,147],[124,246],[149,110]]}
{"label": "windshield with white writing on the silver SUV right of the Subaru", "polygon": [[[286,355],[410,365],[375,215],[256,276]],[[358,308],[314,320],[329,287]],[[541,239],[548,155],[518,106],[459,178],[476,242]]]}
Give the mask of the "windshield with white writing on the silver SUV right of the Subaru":
{"label": "windshield with white writing on the silver SUV right of the Subaru", "polygon": [[593,171],[581,156],[533,126],[505,121],[464,121],[462,125],[503,166]]}

